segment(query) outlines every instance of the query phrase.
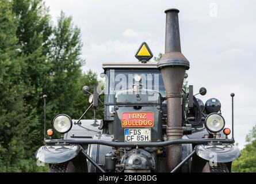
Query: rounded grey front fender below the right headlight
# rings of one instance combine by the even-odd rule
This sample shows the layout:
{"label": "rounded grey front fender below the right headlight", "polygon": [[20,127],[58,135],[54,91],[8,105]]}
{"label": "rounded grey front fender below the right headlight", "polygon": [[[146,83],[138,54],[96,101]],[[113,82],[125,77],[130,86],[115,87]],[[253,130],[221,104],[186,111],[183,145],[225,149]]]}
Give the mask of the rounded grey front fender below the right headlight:
{"label": "rounded grey front fender below the right headlight", "polygon": [[196,145],[195,150],[199,157],[214,163],[232,162],[241,156],[239,148],[232,144],[200,144]]}

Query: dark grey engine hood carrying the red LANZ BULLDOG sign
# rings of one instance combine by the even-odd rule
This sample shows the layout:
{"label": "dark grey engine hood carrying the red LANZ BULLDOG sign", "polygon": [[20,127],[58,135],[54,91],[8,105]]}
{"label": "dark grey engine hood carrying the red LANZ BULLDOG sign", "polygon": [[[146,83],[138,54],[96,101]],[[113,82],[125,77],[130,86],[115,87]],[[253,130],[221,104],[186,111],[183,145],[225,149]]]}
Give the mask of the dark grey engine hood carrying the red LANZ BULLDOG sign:
{"label": "dark grey engine hood carrying the red LANZ BULLDOG sign", "polygon": [[[158,91],[121,91],[116,93],[114,104],[114,141],[125,139],[129,131],[149,132],[150,139],[138,141],[162,141],[162,97]],[[127,132],[125,132],[125,129]],[[136,141],[136,140],[134,140]]]}

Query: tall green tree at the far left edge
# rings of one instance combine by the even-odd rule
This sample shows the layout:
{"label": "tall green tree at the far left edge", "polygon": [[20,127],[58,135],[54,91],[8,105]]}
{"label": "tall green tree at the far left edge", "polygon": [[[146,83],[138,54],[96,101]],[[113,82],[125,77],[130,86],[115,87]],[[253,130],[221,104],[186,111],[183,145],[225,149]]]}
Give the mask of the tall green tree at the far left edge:
{"label": "tall green tree at the far left edge", "polygon": [[26,137],[33,112],[24,97],[29,93],[22,78],[24,57],[16,37],[17,20],[10,1],[0,3],[0,170],[28,171]]}

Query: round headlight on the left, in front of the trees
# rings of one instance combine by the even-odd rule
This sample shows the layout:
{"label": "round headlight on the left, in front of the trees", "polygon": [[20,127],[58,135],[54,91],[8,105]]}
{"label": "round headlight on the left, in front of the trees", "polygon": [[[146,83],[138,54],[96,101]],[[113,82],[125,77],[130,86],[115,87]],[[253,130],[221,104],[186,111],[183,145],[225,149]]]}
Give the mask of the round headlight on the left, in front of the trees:
{"label": "round headlight on the left, in front of the trees", "polygon": [[53,121],[54,129],[59,133],[67,133],[72,127],[72,120],[66,114],[59,114]]}

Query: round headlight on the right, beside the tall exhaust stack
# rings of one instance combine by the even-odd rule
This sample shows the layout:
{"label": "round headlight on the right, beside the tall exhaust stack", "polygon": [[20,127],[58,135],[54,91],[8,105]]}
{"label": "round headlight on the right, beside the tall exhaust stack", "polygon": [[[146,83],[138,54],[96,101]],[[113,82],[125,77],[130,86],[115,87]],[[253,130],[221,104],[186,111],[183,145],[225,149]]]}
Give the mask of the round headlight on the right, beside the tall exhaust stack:
{"label": "round headlight on the right, beside the tall exhaust stack", "polygon": [[218,113],[209,114],[205,120],[205,126],[209,132],[220,132],[225,126],[224,118]]}

